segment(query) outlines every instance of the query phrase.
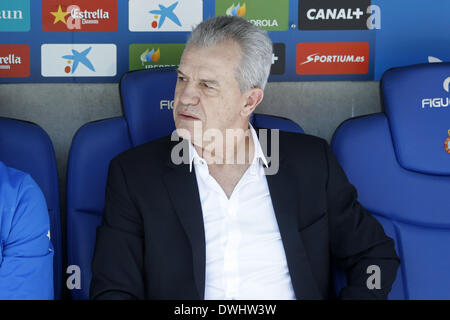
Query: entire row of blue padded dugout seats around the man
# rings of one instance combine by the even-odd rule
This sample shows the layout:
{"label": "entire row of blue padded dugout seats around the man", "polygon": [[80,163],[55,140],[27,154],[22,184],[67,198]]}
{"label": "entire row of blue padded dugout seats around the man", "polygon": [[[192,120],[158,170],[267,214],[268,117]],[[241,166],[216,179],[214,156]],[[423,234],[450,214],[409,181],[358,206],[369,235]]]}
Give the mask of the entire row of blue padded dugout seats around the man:
{"label": "entire row of blue padded dugout seats around the man", "polygon": [[[67,260],[81,270],[73,299],[89,297],[96,228],[104,206],[109,161],[174,129],[176,74],[171,69],[126,73],[123,116],[91,122],[75,135],[67,168]],[[396,242],[402,264],[390,299],[450,299],[450,64],[387,71],[384,111],[344,122],[332,148],[359,201]],[[262,128],[303,132],[294,122],[256,114]],[[445,142],[445,144],[444,144]],[[55,297],[61,296],[62,245],[53,147],[36,125],[0,118],[0,161],[30,173],[47,199],[55,248]],[[64,272],[65,274],[65,272]],[[335,290],[345,285],[336,272]]]}

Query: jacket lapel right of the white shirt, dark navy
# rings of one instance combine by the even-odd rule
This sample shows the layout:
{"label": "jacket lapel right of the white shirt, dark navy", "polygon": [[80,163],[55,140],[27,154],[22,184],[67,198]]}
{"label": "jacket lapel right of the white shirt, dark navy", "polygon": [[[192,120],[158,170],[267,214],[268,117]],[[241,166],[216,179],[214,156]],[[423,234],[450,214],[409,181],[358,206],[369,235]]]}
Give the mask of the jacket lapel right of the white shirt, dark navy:
{"label": "jacket lapel right of the white shirt, dark navy", "polygon": [[[259,130],[257,130],[259,132]],[[268,135],[267,149],[271,150],[271,139]],[[263,150],[267,157],[267,150]],[[283,152],[284,151],[284,152]],[[311,264],[306,254],[303,241],[298,230],[299,221],[299,184],[291,174],[287,165],[286,151],[280,146],[280,161],[278,172],[267,175],[273,209],[277,218],[292,285],[297,299],[321,299],[317,284],[311,270]],[[271,154],[273,157],[273,155]],[[273,164],[273,160],[271,163]]]}

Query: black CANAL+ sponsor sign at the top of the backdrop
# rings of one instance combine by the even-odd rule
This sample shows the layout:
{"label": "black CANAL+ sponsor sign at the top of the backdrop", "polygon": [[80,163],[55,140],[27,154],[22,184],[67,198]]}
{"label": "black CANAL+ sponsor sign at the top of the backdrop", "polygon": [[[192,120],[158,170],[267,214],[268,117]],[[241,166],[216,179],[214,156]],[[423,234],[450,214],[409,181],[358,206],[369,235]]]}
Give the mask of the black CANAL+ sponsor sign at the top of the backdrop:
{"label": "black CANAL+ sponsor sign at the top of the backdrop", "polygon": [[302,30],[367,30],[381,28],[381,10],[370,0],[300,0]]}

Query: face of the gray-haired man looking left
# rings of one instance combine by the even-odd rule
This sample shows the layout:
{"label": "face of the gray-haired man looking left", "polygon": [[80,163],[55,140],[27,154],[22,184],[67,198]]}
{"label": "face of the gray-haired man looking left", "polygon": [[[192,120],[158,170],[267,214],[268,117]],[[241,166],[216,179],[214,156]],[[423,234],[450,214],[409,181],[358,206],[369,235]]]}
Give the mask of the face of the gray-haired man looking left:
{"label": "face of the gray-haired man looking left", "polygon": [[[246,121],[241,110],[246,104],[235,78],[241,49],[234,41],[210,48],[188,47],[181,58],[175,89],[173,116],[179,129],[194,137],[194,125],[208,129],[240,128]],[[196,132],[198,134],[198,132]],[[195,142],[194,142],[195,143]]]}

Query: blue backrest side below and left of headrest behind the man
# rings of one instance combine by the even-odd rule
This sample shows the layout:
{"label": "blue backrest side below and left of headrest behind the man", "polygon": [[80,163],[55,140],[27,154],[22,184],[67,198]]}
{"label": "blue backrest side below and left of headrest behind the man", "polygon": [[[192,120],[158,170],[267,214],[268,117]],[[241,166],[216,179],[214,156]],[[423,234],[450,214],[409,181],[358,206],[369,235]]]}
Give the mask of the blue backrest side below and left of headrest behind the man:
{"label": "blue backrest side below and left of headrest behind the man", "polygon": [[[69,287],[73,299],[88,299],[96,229],[101,222],[109,162],[132,147],[124,118],[91,122],[73,138],[67,165],[67,262],[79,269]],[[80,283],[77,283],[77,280]]]}

